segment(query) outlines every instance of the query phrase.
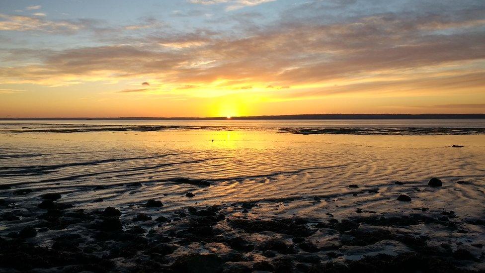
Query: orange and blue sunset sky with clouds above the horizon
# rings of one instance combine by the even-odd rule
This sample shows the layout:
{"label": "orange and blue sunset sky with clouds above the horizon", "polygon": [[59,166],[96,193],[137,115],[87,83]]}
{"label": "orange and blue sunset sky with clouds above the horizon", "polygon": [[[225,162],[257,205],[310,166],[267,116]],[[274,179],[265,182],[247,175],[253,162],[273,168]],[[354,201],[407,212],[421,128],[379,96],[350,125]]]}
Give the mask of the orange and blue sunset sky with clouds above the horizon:
{"label": "orange and blue sunset sky with clouds above the horizon", "polygon": [[484,0],[0,0],[0,118],[485,113]]}

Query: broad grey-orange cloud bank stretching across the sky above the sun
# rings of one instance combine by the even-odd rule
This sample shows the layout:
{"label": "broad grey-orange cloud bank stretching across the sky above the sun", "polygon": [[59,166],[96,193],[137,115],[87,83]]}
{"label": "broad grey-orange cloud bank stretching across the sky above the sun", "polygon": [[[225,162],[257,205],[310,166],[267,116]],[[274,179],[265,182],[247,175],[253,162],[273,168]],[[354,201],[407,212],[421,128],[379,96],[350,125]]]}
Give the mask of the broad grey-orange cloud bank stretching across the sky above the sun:
{"label": "broad grey-orange cloud bank stretching across the sky above the sun", "polygon": [[[267,1],[191,2],[248,6]],[[301,6],[291,8],[294,14],[301,12]],[[194,96],[198,90],[207,96],[264,91],[278,93],[280,99],[359,92],[378,96],[483,92],[484,11],[481,7],[448,13],[367,10],[330,21],[282,17],[237,31],[167,30],[154,27],[160,22],[153,18],[109,27],[0,14],[0,30],[69,33],[85,29],[99,31],[104,38],[129,29],[126,32],[133,35],[68,49],[3,50],[3,59],[19,62],[0,65],[0,81],[52,86],[153,79],[167,90]],[[146,87],[119,92],[152,90]]]}

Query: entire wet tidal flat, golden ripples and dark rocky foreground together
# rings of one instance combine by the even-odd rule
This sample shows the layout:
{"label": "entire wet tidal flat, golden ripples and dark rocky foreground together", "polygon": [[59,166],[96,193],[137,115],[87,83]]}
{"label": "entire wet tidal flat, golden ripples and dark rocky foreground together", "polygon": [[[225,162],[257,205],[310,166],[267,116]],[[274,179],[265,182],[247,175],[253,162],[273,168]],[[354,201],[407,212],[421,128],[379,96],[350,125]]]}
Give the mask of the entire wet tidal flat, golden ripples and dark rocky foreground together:
{"label": "entire wet tidal flat, golden ripples and dark rocky foreground together", "polygon": [[1,271],[485,270],[482,135],[1,140]]}

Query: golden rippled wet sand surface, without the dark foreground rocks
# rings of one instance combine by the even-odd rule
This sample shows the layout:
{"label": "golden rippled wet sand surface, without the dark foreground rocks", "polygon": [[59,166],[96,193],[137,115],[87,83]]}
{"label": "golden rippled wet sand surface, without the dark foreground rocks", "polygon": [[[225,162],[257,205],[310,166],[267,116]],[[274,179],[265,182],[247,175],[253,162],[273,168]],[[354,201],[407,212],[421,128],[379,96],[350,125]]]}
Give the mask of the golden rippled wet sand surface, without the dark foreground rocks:
{"label": "golden rippled wet sand surface, without the dark foreground rocks", "polygon": [[[62,198],[56,202],[74,206],[66,211],[85,209],[83,213],[94,217],[89,221],[96,221],[96,210],[115,207],[122,212],[124,230],[139,226],[144,230],[139,234],[147,238],[155,233],[168,236],[174,230],[187,232],[188,207],[201,211],[219,206],[217,215],[225,220],[210,225],[213,233],[200,235],[202,240],[168,236],[170,241],[164,244],[172,253],[160,258],[164,270],[174,270],[177,259],[186,255],[215,253],[220,258],[229,252],[240,253],[241,258],[221,258],[219,269],[255,269],[256,262],[268,262],[277,271],[278,259],[286,257],[293,263],[290,271],[305,272],[328,263],[347,265],[348,270],[351,261],[379,254],[422,253],[423,246],[433,249],[437,257],[447,257],[446,253],[455,257],[451,261],[459,269],[485,270],[484,249],[479,247],[485,243],[485,136],[481,134],[302,135],[201,128],[2,132],[0,143],[1,210],[19,218],[3,217],[0,236],[4,238],[15,238],[14,233],[25,226],[46,226],[39,218],[45,211],[37,207],[43,201],[41,195],[60,193]],[[428,186],[433,177],[441,179],[443,186]],[[348,187],[351,184],[356,187]],[[187,192],[195,196],[187,197]],[[401,194],[411,201],[398,201]],[[144,207],[150,199],[162,201],[163,206]],[[152,219],[132,220],[140,213]],[[171,222],[155,221],[159,216]],[[297,223],[300,218],[304,223]],[[309,232],[254,230],[254,221],[260,220],[294,221],[289,227]],[[346,221],[352,225],[342,228],[339,223]],[[84,238],[81,249],[96,242],[93,230],[82,223],[42,231],[27,242],[51,247],[56,237],[71,233]],[[424,245],[417,250],[407,239],[396,237],[403,234],[421,238]],[[216,235],[226,239],[216,240]],[[355,238],[372,235],[379,238],[356,242]],[[227,238],[236,237],[252,247],[231,247]],[[298,241],[300,237],[310,249]],[[265,248],[274,239],[292,251]],[[92,253],[104,257],[109,250],[100,248]],[[465,256],[474,259],[461,259],[457,251],[466,251]],[[133,270],[142,252],[112,258],[112,270]],[[305,262],[295,256],[304,254],[316,260]]]}

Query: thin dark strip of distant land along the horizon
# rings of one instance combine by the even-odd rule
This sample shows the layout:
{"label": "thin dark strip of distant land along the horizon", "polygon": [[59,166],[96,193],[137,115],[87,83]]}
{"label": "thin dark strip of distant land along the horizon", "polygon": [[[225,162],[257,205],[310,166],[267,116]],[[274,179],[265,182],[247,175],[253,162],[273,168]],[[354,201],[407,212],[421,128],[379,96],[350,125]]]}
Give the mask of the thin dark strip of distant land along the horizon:
{"label": "thin dark strip of distant land along the horizon", "polygon": [[235,117],[31,117],[0,120],[309,120],[309,119],[485,119],[485,114],[301,114]]}

